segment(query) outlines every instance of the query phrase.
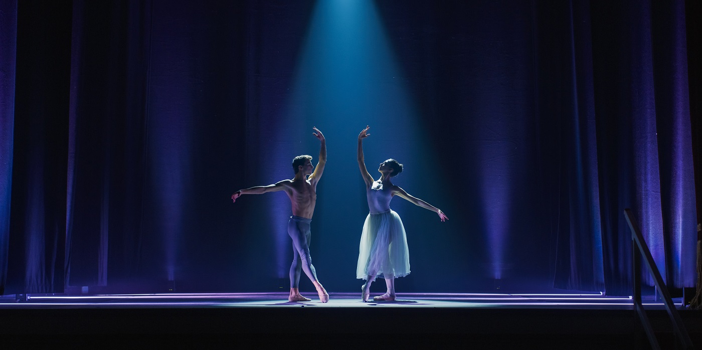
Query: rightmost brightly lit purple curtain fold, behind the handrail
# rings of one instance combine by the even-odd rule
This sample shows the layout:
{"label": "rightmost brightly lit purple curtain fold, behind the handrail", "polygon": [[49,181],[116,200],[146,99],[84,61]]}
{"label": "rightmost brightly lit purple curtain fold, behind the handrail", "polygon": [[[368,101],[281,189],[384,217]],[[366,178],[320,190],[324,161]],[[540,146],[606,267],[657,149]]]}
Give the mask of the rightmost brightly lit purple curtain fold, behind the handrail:
{"label": "rightmost brightly lit purple curtain fold, behind the handrail", "polygon": [[[675,287],[692,286],[696,230],[694,163],[688,87],[686,15],[683,1],[654,1],[651,32],[654,47],[656,130],[663,217],[665,278]],[[699,215],[699,213],[697,214]],[[663,274],[663,271],[661,271]]]}

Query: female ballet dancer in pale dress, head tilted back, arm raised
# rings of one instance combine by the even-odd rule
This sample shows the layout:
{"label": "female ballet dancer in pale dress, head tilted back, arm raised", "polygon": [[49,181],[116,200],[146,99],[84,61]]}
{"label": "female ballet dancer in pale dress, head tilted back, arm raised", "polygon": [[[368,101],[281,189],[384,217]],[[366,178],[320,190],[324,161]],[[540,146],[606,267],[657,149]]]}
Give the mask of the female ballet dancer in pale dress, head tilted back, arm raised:
{"label": "female ballet dancer in pale dress, head tilted back, arm raised", "polygon": [[358,135],[357,160],[361,176],[366,182],[366,197],[370,213],[363,224],[356,278],[366,280],[361,287],[361,299],[364,302],[368,302],[371,283],[375,281],[376,276],[385,278],[388,292],[373,297],[373,300],[393,301],[395,300],[395,278],[409,275],[409,250],[402,220],[397,213],[390,210],[392,197],[397,195],[417,206],[432,210],[439,215],[442,222],[449,218],[441,210],[410,196],[404,189],[392,184],[390,177],[402,172],[402,164],[395,159],[380,163],[378,168],[380,177],[377,181],[373,181],[373,177],[366,170],[363,156],[363,139],[371,135],[368,133],[369,128],[366,126]]}

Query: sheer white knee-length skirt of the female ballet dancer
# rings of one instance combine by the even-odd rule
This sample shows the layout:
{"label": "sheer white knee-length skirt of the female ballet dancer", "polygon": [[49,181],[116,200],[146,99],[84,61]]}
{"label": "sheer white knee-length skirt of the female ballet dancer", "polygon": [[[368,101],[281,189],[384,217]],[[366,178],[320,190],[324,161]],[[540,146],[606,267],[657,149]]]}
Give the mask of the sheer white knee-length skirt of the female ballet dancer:
{"label": "sheer white knee-length skirt of the female ballet dancer", "polygon": [[356,278],[409,275],[407,236],[399,215],[392,210],[370,213],[363,224]]}

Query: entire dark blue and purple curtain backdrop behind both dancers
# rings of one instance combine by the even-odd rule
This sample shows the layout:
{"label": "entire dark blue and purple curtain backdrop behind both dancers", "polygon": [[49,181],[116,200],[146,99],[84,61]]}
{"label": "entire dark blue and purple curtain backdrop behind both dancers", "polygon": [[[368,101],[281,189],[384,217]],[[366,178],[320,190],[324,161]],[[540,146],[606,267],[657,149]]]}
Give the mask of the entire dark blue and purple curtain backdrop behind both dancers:
{"label": "entire dark blue and purple curtain backdrop behind both dancers", "polygon": [[696,283],[698,8],[359,0],[397,66],[373,83],[406,92],[409,123],[364,100],[344,120],[291,112],[320,4],[0,2],[0,291],[287,288],[288,199],[229,196],[316,159],[312,126],[330,159],[314,264],[357,290],[366,124],[366,164],[402,155],[397,184],[451,218],[392,202],[413,264],[398,290],[629,295],[624,208],[667,283]]}

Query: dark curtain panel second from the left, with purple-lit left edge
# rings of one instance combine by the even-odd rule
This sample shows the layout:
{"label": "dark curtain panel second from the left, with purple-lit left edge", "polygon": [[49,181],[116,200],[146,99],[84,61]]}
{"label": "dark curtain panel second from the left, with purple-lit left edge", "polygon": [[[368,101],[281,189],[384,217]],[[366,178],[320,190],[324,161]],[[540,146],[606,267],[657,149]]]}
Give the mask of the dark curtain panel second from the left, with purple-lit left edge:
{"label": "dark curtain panel second from the left, with purple-lit left edge", "polygon": [[150,1],[73,6],[67,286],[143,281]]}

